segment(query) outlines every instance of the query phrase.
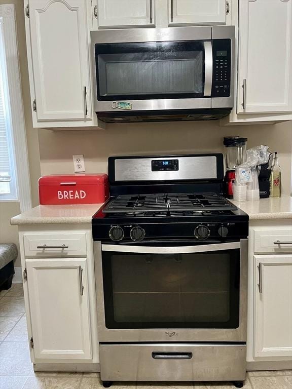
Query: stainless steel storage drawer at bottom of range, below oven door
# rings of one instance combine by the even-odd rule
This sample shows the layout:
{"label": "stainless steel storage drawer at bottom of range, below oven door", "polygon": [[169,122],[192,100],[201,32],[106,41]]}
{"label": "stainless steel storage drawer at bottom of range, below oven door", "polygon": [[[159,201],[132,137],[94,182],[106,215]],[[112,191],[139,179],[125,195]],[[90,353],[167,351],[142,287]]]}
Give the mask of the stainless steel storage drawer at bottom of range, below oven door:
{"label": "stainless steel storage drawer at bottom of range, below oven door", "polygon": [[241,381],[244,344],[100,344],[103,381]]}

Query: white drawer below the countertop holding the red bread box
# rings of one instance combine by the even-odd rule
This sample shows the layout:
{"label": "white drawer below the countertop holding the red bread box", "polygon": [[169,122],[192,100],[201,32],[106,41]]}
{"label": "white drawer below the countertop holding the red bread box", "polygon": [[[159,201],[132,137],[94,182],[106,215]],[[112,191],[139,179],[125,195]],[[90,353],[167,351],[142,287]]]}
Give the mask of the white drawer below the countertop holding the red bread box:
{"label": "white drawer below the countertop holding the red bread box", "polygon": [[25,256],[86,255],[86,233],[24,234]]}

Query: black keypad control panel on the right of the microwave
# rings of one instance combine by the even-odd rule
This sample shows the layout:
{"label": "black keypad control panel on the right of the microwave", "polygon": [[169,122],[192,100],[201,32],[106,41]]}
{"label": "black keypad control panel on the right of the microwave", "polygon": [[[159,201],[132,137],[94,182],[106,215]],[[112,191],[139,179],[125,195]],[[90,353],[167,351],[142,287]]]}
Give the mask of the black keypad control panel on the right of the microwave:
{"label": "black keypad control panel on the right of the microwave", "polygon": [[216,39],[212,41],[213,80],[212,97],[230,96],[231,87],[231,41]]}

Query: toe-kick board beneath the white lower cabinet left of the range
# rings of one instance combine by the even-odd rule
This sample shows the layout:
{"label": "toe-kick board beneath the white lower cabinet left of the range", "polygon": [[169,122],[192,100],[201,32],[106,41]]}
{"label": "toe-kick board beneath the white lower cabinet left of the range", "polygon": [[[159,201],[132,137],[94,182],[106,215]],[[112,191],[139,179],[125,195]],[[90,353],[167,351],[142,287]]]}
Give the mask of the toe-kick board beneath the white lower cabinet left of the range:
{"label": "toe-kick board beneath the white lower cabinet left of the range", "polygon": [[68,372],[99,372],[99,363],[85,362],[85,363],[34,363],[34,371],[68,371]]}

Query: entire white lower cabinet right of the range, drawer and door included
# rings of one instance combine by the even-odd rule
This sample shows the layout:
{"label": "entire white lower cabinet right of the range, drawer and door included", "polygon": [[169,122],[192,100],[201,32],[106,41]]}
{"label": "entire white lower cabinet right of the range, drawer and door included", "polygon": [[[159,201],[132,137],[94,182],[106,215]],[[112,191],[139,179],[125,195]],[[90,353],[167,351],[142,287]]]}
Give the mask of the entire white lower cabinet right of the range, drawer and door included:
{"label": "entire white lower cabinet right of the range, drawer and door included", "polygon": [[250,220],[247,370],[290,369],[292,363],[292,226]]}

